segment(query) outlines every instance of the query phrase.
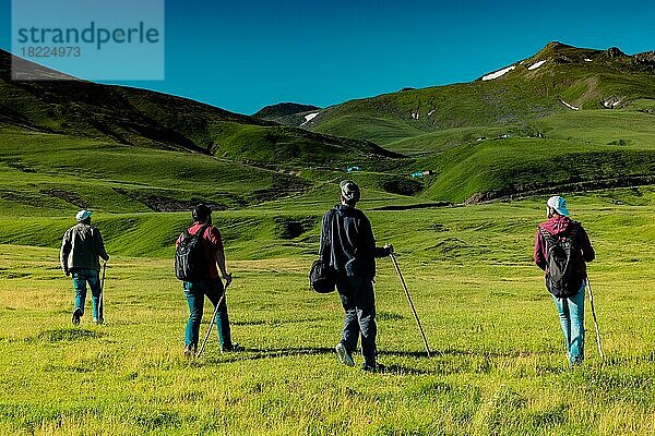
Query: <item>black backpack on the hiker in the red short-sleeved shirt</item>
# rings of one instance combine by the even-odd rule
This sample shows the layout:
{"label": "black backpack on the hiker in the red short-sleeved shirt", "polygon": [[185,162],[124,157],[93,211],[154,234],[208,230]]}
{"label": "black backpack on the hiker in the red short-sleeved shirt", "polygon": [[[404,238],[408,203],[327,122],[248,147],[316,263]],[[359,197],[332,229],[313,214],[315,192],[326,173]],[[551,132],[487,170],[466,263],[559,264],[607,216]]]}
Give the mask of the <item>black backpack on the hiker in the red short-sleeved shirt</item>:
{"label": "black backpack on the hiker in the red short-sleeved shirt", "polygon": [[180,243],[175,251],[175,277],[183,281],[196,281],[209,275],[210,262],[202,243],[202,235],[209,226],[203,226],[195,232],[184,230]]}

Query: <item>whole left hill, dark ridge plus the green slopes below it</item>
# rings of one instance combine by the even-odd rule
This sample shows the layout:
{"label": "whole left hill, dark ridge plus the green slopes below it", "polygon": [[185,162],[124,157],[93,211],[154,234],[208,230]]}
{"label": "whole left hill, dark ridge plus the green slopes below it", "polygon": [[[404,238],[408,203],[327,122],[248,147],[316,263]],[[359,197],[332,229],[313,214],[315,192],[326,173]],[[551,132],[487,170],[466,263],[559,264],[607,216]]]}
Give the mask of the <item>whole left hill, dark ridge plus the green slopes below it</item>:
{"label": "whole left hill, dark ridge plus the green slopes below it", "polygon": [[10,220],[83,207],[178,211],[200,201],[242,208],[324,183],[298,175],[308,167],[389,167],[397,156],[366,141],[13,61],[23,81],[12,81],[12,57],[0,51],[0,213]]}

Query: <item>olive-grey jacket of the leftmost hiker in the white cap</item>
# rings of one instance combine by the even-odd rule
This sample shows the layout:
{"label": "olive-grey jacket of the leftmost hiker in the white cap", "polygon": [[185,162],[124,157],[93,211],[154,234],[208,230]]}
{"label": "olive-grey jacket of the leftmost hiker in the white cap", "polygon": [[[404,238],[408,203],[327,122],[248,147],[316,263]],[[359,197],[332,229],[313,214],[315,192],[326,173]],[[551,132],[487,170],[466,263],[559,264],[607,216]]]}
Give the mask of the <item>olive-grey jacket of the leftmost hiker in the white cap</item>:
{"label": "olive-grey jacket of the leftmost hiker in the white cap", "polygon": [[100,231],[93,226],[79,222],[63,233],[59,259],[61,269],[68,275],[72,269],[100,270],[99,257],[109,261]]}

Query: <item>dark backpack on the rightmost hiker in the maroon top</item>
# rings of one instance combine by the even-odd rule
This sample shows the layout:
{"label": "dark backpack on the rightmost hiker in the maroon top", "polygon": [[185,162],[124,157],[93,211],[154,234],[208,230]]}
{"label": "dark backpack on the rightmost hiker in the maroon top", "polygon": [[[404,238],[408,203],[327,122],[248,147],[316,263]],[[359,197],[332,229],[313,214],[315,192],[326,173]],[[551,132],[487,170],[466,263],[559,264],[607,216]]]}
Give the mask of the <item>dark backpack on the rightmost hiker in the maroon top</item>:
{"label": "dark backpack on the rightmost hiker in the maroon top", "polygon": [[579,274],[581,264],[580,247],[576,244],[577,226],[563,235],[555,237],[539,227],[539,232],[548,243],[546,287],[557,298],[575,295],[584,277]]}

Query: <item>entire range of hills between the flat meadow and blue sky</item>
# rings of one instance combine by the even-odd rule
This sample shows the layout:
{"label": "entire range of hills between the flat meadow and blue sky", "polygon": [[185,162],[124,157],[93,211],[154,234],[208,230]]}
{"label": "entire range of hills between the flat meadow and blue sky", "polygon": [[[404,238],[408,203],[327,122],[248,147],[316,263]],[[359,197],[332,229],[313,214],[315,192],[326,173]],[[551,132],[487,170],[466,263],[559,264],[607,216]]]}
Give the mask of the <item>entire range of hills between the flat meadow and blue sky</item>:
{"label": "entire range of hills between the flat meadow and blue sky", "polygon": [[258,117],[318,109],[281,104],[248,117],[122,86],[12,82],[10,61],[0,53],[1,201],[16,210],[52,197],[120,213],[311,203],[345,177],[405,205],[655,183],[653,52],[551,43],[472,83],[322,109],[305,129]]}

